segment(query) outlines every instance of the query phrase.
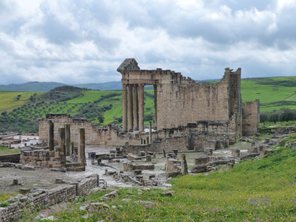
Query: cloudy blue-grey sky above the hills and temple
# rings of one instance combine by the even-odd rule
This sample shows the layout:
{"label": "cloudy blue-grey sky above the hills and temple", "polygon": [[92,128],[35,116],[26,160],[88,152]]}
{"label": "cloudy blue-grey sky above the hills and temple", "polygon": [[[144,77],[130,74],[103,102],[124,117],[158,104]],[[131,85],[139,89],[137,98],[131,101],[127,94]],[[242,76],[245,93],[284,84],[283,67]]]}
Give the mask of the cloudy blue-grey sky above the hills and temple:
{"label": "cloudy blue-grey sky above the hills and temple", "polygon": [[296,75],[296,0],[0,0],[0,84],[118,81],[141,69],[193,79]]}

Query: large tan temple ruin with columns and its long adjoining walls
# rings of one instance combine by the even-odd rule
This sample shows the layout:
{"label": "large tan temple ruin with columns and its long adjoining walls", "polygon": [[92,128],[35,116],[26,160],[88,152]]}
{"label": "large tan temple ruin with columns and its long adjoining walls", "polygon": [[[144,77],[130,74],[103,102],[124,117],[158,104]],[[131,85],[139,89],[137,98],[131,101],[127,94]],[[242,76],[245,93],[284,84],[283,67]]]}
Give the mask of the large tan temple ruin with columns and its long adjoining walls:
{"label": "large tan temple ruin with columns and its long adjoining walls", "polygon": [[[125,59],[117,72],[122,74],[122,128],[113,124],[94,127],[86,119],[52,113],[39,119],[39,138],[48,139],[53,133],[58,141],[58,128],[69,124],[74,146],[78,128],[85,128],[86,144],[154,148],[177,142],[197,150],[226,148],[240,135],[257,133],[259,99],[242,105],[240,68],[235,72],[226,68],[220,82],[206,84],[171,70],[141,70],[135,59]],[[150,133],[144,131],[145,85],[154,87],[153,128],[157,130]],[[53,132],[48,131],[50,121],[54,122]]]}

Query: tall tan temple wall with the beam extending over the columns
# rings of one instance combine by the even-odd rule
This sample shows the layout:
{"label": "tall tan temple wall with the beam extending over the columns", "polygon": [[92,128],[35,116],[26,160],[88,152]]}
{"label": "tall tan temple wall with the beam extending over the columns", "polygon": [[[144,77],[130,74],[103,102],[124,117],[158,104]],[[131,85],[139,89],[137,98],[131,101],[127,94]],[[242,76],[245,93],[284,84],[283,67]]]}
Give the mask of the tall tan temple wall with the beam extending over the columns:
{"label": "tall tan temple wall with the beam extending over the columns", "polygon": [[[122,84],[156,85],[157,129],[162,130],[185,127],[187,123],[194,124],[198,121],[226,121],[235,112],[240,116],[241,69],[231,71],[229,68],[225,69],[221,81],[211,84],[195,83],[191,78],[170,70],[118,72],[122,74]],[[240,128],[235,132],[239,130]]]}

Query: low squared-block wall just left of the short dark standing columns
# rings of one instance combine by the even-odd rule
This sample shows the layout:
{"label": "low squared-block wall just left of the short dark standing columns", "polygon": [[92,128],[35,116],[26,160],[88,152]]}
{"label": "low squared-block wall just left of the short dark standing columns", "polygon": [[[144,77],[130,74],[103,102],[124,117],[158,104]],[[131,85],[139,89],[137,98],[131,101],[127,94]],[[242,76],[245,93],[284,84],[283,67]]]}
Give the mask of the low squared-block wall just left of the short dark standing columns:
{"label": "low squared-block wall just left of the short dark standing columns", "polygon": [[22,151],[20,156],[20,163],[46,168],[62,167],[60,151],[49,151],[49,149]]}

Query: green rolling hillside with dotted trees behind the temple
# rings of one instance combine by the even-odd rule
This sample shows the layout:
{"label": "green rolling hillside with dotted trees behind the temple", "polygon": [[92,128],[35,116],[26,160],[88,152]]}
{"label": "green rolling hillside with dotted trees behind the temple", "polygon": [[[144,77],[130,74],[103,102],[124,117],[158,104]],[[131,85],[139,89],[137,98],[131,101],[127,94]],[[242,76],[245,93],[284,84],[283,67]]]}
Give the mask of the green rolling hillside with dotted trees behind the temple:
{"label": "green rolling hillside with dotted trees behind the temple", "polygon": [[[243,103],[259,98],[260,111],[296,109],[294,82],[296,77],[242,79]],[[59,86],[48,92],[0,91],[0,112],[7,111],[6,118],[12,118],[15,121],[21,121],[19,120],[21,118],[28,121],[45,117],[45,113],[70,113],[76,118],[87,118],[99,126],[111,122],[121,124],[122,91],[86,91],[85,88]],[[145,124],[154,118],[153,93],[153,86],[145,88]],[[7,124],[9,121],[7,120]],[[15,125],[17,125],[16,122]]]}

